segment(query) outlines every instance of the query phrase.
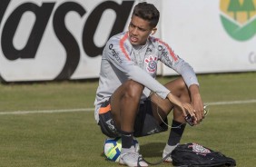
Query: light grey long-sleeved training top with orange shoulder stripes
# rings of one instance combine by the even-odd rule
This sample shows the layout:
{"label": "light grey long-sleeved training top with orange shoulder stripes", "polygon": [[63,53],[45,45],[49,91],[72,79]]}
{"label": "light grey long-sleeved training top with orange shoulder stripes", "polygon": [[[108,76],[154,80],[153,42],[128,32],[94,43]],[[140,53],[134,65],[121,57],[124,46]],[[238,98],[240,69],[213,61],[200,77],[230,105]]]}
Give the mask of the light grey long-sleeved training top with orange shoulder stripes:
{"label": "light grey long-sleeved training top with orange shoulder stripes", "polygon": [[144,45],[133,46],[128,32],[116,34],[103,49],[99,86],[95,98],[95,120],[99,121],[99,108],[124,82],[131,79],[144,85],[142,102],[151,91],[165,99],[170,90],[155,80],[158,61],[182,75],[189,87],[199,84],[190,64],[187,64],[162,40],[150,36]]}

